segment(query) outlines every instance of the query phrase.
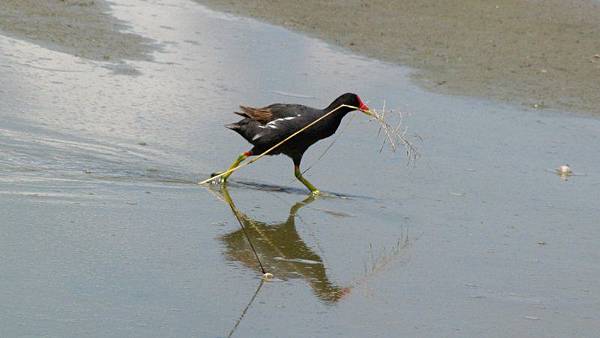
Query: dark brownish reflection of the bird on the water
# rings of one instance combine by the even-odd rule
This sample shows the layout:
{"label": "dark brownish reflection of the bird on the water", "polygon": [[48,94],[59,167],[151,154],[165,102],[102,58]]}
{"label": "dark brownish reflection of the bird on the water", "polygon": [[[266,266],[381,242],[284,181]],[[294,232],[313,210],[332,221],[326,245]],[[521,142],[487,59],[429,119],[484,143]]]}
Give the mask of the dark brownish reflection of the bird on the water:
{"label": "dark brownish reflection of the bird on the water", "polygon": [[[315,200],[312,195],[292,205],[285,221],[266,223],[241,212],[233,203],[226,187],[222,186],[220,192],[234,216],[246,229],[266,271],[279,279],[304,279],[315,295],[326,303],[335,303],[350,292],[350,288],[340,287],[329,280],[323,260],[306,245],[296,230],[296,214],[303,206]],[[239,261],[249,268],[259,269],[243,229],[224,235],[221,240],[227,247],[226,255],[229,259]]]}

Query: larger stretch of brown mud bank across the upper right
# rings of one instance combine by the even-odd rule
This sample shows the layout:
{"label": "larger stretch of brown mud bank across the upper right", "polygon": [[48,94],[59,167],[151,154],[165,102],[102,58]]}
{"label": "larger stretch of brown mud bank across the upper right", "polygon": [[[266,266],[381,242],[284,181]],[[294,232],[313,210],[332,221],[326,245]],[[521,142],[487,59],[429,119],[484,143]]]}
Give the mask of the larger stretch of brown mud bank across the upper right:
{"label": "larger stretch of brown mud bank across the upper right", "polygon": [[600,113],[600,4],[590,1],[201,0],[409,65],[426,88]]}

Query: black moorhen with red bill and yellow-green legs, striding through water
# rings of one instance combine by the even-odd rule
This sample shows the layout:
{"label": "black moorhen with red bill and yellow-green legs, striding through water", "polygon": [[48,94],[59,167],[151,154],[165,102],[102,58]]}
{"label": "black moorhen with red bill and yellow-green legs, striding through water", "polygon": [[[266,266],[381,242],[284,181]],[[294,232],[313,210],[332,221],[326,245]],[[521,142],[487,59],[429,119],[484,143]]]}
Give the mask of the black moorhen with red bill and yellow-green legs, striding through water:
{"label": "black moorhen with red bill and yellow-green legs, striding through water", "polygon": [[[226,127],[236,131],[254,147],[250,151],[241,154],[228,170],[237,167],[249,156],[262,154],[311,122],[335,110],[329,116],[281,144],[268,154],[285,154],[289,156],[294,162],[294,175],[313,194],[319,194],[319,190],[306,180],[300,171],[300,162],[304,152],[317,141],[333,135],[342,122],[342,118],[349,112],[358,109],[370,115],[369,107],[362,102],[358,95],[352,93],[341,95],[325,109],[284,103],[275,103],[263,108],[240,106],[240,109],[241,112],[235,113],[243,116],[244,119],[228,124]],[[223,183],[227,181],[231,173],[228,172],[223,175]]]}

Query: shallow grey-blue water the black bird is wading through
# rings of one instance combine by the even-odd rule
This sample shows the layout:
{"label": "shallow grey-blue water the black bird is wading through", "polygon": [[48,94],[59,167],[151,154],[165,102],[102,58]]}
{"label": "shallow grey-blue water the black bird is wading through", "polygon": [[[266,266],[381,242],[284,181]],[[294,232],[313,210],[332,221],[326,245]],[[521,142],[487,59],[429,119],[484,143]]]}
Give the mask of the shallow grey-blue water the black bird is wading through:
{"label": "shallow grey-blue water the black bird is wading through", "polygon": [[[3,336],[594,336],[600,120],[427,93],[191,2],[115,3],[154,62],[0,37]],[[307,174],[338,197],[305,201],[282,156],[232,177],[231,208],[195,184],[248,150],[222,127],[238,104],[346,91],[412,112],[414,167],[357,115]],[[257,293],[236,214],[275,275]]]}

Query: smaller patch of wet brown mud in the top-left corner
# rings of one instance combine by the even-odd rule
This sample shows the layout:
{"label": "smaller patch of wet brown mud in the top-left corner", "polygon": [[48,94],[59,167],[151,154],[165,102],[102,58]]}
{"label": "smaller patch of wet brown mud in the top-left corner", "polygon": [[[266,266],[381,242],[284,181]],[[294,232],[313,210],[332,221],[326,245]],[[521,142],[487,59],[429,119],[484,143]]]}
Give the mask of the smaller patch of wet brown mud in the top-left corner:
{"label": "smaller patch of wet brown mud in the top-left corner", "polygon": [[101,0],[2,0],[0,33],[92,60],[149,60],[152,40],[108,11]]}

